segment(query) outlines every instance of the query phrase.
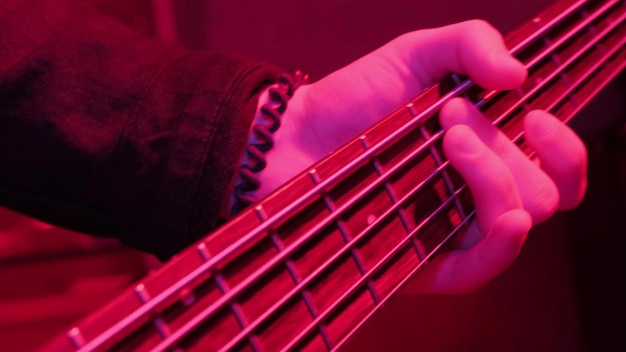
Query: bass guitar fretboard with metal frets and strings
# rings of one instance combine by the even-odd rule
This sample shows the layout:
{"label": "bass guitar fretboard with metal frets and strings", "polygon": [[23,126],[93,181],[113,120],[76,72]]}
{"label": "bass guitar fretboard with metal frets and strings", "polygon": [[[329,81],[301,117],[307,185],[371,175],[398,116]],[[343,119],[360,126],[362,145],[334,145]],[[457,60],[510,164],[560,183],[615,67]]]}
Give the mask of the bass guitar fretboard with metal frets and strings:
{"label": "bass guitar fretboard with metal frets and strings", "polygon": [[453,77],[51,342],[58,351],[332,350],[471,221],[437,112],[472,100],[529,156],[522,117],[568,121],[626,65],[623,1],[558,2],[507,36],[517,90]]}

